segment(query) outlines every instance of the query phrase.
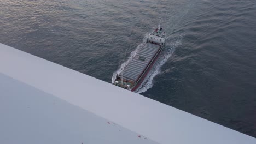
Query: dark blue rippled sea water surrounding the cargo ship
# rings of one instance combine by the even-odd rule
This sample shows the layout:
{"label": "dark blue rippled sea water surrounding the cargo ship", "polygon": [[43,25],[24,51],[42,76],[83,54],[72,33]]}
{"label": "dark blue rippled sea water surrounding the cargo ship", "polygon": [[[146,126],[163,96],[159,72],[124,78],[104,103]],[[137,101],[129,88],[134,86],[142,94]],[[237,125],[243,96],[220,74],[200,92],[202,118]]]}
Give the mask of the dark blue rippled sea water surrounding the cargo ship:
{"label": "dark blue rippled sea water surrounding the cargo ship", "polygon": [[256,1],[0,1],[0,43],[112,82],[158,25],[142,95],[256,137]]}

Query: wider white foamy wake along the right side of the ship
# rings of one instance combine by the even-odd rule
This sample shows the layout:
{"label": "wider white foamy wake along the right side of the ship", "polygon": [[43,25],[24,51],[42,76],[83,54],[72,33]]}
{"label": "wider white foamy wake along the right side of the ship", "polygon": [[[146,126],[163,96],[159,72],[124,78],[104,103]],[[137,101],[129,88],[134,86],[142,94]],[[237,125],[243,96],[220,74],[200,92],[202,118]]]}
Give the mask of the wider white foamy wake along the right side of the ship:
{"label": "wider white foamy wake along the right side of the ship", "polygon": [[[168,37],[166,39],[167,42],[165,44],[164,50],[162,51],[160,57],[158,58],[158,61],[156,61],[153,69],[150,70],[146,79],[144,79],[144,81],[142,82],[142,85],[139,86],[139,88],[135,91],[136,93],[146,92],[149,88],[153,87],[154,77],[161,72],[160,68],[172,56],[173,52],[175,51],[175,48],[178,45],[182,44],[183,37],[184,37],[184,34],[179,34],[176,37]],[[168,39],[171,39],[171,40],[168,40]]]}

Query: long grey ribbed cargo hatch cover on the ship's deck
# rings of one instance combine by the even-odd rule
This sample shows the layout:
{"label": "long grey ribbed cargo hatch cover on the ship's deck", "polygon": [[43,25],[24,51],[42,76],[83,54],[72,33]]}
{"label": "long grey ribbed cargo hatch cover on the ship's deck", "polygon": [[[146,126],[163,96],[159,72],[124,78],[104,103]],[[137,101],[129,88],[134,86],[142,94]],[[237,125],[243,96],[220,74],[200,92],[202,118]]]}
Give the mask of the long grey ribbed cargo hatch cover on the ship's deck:
{"label": "long grey ribbed cargo hatch cover on the ship's deck", "polygon": [[135,82],[143,73],[148,63],[160,49],[160,45],[146,43],[132,61],[123,70],[123,79]]}

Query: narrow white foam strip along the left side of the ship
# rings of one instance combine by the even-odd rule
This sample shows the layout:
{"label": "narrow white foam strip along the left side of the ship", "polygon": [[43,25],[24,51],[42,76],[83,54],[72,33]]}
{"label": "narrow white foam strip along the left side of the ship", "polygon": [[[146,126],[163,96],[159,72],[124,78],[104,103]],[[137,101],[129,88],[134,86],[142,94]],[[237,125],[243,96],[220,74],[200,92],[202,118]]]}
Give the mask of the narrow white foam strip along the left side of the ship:
{"label": "narrow white foam strip along the left side of the ship", "polygon": [[120,67],[117,71],[115,71],[115,72],[113,73],[113,76],[112,76],[112,83],[115,82],[115,76],[116,76],[117,74],[120,74],[120,73],[121,73],[121,70],[124,69],[125,66],[131,62],[132,58],[135,57],[136,54],[139,52],[139,50],[141,50],[141,48],[143,47],[143,45],[146,44],[148,35],[149,35],[149,33],[146,33],[146,34],[144,35],[144,38],[143,38],[142,43],[139,44],[139,45],[136,47],[136,49],[131,52],[130,57],[129,57],[124,63],[121,64],[121,67]]}

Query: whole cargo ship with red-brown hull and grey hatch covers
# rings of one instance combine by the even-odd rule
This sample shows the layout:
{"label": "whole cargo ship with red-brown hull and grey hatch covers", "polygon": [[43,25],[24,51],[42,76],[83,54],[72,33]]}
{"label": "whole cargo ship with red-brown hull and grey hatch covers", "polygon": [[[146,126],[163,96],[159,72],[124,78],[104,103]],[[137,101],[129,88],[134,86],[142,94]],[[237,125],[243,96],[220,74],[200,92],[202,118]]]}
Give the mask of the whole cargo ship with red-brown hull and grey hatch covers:
{"label": "whole cargo ship with red-brown hull and grey hatch covers", "polygon": [[135,91],[160,55],[165,44],[165,36],[166,33],[161,27],[160,20],[158,27],[149,34],[147,43],[143,45],[121,73],[116,76],[114,85]]}

